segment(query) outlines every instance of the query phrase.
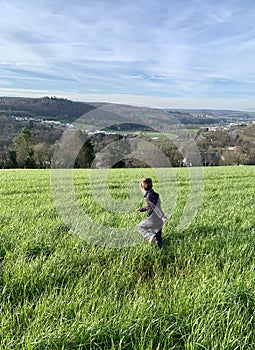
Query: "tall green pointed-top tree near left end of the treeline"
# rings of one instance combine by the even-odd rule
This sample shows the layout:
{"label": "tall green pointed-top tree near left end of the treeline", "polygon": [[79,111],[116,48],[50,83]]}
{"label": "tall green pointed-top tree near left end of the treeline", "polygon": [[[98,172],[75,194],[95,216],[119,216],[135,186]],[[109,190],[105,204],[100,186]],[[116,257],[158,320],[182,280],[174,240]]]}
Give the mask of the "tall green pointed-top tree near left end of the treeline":
{"label": "tall green pointed-top tree near left end of the treeline", "polygon": [[35,137],[27,128],[23,128],[13,140],[17,163],[21,168],[34,168]]}

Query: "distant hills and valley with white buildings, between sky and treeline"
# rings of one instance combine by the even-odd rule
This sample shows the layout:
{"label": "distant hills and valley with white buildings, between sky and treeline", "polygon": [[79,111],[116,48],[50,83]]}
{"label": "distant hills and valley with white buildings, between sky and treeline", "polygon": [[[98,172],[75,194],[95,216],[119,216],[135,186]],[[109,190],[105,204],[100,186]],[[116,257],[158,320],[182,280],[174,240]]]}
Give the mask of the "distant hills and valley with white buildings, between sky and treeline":
{"label": "distant hills and valley with white buildings, between sky and treeline", "polygon": [[[48,96],[0,97],[0,147],[10,144],[22,127],[31,130],[38,140],[52,143],[63,133],[64,124],[73,122],[84,129],[148,131],[155,125],[172,126],[182,123],[187,129],[199,129],[204,125],[250,122],[254,119],[254,112],[231,110],[161,110],[109,103],[86,103]],[[46,125],[40,120],[59,122],[59,125]]]}

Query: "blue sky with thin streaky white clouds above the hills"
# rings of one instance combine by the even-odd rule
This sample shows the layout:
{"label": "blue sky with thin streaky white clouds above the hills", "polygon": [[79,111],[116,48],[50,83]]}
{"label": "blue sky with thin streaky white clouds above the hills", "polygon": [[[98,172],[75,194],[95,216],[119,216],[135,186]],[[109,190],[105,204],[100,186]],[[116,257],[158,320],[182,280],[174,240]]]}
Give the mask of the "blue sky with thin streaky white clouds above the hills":
{"label": "blue sky with thin streaky white clouds above the hills", "polygon": [[0,96],[255,111],[253,0],[0,0]]}

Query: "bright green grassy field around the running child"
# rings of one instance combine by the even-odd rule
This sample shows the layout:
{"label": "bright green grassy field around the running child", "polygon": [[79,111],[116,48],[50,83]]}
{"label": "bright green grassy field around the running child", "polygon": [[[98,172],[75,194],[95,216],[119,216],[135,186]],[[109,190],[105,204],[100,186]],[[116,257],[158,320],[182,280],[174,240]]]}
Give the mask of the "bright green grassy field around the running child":
{"label": "bright green grassy field around the running child", "polygon": [[[255,167],[206,168],[200,209],[178,232],[187,171],[174,170],[162,250],[88,244],[62,222],[50,171],[0,171],[0,349],[254,349]],[[111,197],[124,200],[121,179],[148,172],[109,172]],[[87,170],[74,179],[94,220],[128,227],[143,218],[93,202]],[[165,199],[162,207],[172,211]]]}

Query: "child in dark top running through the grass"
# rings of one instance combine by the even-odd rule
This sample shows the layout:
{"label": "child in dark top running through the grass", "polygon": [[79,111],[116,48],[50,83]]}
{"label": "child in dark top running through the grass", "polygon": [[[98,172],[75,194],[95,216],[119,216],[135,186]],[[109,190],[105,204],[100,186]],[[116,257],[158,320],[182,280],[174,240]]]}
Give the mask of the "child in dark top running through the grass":
{"label": "child in dark top running through the grass", "polygon": [[156,241],[158,247],[162,248],[162,226],[167,218],[160,207],[159,194],[153,190],[151,178],[143,178],[140,186],[146,198],[146,207],[138,208],[136,211],[139,213],[147,211],[147,218],[140,222],[138,230],[150,243]]}

